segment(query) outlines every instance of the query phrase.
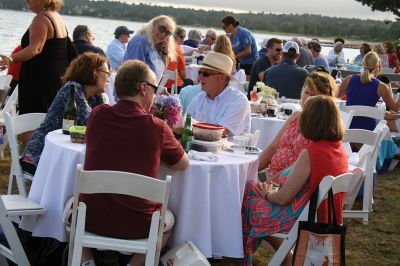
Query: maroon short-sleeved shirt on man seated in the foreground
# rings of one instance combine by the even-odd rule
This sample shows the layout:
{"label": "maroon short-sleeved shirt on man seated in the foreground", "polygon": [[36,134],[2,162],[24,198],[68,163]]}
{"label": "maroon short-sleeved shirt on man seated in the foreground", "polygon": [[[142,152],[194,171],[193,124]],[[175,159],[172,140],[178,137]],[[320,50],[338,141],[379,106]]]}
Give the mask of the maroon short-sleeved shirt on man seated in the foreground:
{"label": "maroon short-sleeved shirt on man seated in the foreground", "polygon": [[[85,170],[116,170],[156,178],[160,160],[176,164],[184,150],[166,123],[137,103],[119,100],[90,114]],[[119,238],[148,236],[151,215],[160,204],[116,194],[81,195],[87,205],[86,229]]]}

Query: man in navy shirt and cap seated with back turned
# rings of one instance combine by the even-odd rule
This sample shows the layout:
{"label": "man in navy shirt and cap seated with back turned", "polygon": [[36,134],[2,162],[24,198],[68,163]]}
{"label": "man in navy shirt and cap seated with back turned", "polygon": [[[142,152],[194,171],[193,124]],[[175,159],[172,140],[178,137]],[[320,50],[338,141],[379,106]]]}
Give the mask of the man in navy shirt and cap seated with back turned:
{"label": "man in navy shirt and cap seated with back turned", "polygon": [[264,83],[276,89],[279,96],[300,99],[308,72],[296,64],[300,58],[299,45],[288,41],[283,46],[283,61],[264,72]]}

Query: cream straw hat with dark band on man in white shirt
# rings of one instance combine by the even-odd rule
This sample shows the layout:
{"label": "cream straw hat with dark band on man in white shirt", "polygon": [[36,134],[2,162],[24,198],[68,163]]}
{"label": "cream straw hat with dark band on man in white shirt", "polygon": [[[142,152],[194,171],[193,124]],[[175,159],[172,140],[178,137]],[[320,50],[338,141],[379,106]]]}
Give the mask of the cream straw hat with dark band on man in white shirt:
{"label": "cream straw hat with dark band on man in white shirt", "polygon": [[205,68],[220,72],[229,77],[231,81],[239,82],[232,74],[233,62],[229,56],[210,51],[206,54],[202,65],[192,64],[191,68]]}

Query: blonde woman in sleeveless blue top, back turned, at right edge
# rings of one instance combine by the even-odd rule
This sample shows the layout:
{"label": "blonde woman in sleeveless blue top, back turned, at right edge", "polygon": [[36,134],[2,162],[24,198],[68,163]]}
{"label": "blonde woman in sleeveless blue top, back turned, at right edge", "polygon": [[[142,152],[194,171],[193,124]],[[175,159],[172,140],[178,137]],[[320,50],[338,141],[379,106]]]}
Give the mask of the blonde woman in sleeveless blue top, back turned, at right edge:
{"label": "blonde woman in sleeveless blue top, back turned, at right edge", "polygon": [[[381,59],[375,52],[367,53],[362,61],[364,70],[361,74],[346,77],[339,86],[339,97],[346,94],[346,105],[365,105],[375,107],[382,97],[386,106],[397,112],[400,109],[400,100],[393,100],[392,90],[376,77],[381,70]],[[354,117],[350,128],[374,130],[378,121],[367,117]]]}

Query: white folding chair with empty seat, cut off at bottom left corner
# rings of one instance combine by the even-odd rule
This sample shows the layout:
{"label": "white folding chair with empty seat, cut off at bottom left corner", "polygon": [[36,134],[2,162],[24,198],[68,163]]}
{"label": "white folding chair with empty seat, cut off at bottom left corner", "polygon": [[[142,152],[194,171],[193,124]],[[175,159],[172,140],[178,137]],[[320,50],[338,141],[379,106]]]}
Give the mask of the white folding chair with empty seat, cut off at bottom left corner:
{"label": "white folding chair with empty seat, cut off at bottom left corner", "polygon": [[[17,265],[29,266],[30,263],[12,221],[13,219],[18,220],[21,216],[44,213],[46,213],[45,208],[22,195],[2,195],[0,197],[0,225],[9,248],[0,244],[0,255]],[[0,265],[8,265],[3,264],[4,259],[0,260],[0,263]]]}

